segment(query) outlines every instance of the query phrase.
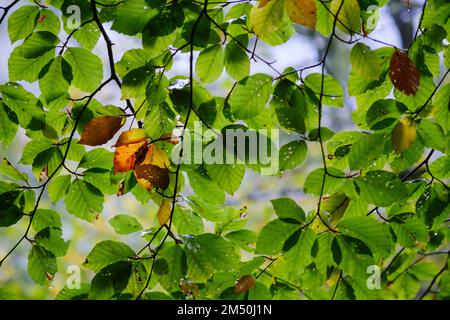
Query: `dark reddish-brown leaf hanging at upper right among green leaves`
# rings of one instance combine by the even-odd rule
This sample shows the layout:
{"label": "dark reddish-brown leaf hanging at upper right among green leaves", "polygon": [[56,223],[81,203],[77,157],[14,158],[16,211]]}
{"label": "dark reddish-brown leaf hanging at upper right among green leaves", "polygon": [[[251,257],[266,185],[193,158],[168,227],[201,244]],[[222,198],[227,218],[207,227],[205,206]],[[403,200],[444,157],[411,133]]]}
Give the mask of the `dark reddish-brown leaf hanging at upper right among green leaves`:
{"label": "dark reddish-brown leaf hanging at upper right among green leaves", "polygon": [[392,54],[389,77],[394,86],[408,96],[414,96],[419,88],[419,69],[402,51],[397,50]]}

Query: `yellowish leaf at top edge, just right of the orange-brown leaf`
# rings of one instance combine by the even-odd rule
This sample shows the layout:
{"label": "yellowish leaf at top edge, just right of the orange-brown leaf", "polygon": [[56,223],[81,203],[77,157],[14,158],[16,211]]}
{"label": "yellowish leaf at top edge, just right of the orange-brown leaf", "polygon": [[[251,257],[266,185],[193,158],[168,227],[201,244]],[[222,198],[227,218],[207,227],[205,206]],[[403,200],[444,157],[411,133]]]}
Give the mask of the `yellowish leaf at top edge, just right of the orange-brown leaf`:
{"label": "yellowish leaf at top edge, just right of the orange-brown leaf", "polygon": [[330,10],[333,15],[339,11],[337,26],[341,31],[348,34],[361,31],[361,9],[358,0],[332,0]]}

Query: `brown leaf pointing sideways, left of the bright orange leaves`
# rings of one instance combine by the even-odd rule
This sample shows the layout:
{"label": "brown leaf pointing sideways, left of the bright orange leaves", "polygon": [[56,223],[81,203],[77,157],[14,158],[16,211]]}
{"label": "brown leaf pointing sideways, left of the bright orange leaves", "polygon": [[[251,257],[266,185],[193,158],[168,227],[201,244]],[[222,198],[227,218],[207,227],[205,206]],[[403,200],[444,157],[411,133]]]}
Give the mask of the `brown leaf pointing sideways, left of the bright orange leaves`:
{"label": "brown leaf pointing sideways, left of the bright orange leaves", "polygon": [[78,143],[88,146],[105,144],[122,127],[122,117],[102,116],[92,119],[85,127]]}

